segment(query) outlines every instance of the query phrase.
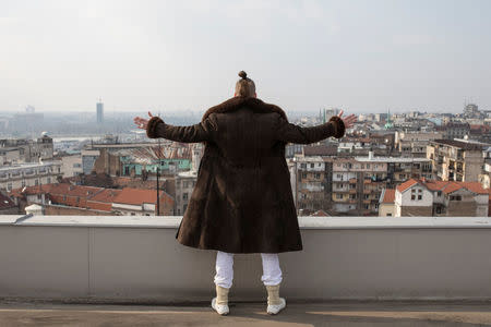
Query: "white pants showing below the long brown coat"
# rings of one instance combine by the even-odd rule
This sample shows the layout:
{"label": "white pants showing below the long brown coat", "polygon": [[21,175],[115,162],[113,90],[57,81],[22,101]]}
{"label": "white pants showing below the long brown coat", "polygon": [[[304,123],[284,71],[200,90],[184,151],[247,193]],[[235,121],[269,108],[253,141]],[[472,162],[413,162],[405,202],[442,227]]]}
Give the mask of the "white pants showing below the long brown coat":
{"label": "white pants showing below the long brown coat", "polygon": [[[276,253],[261,253],[263,259],[263,276],[261,280],[265,286],[274,286],[282,282],[282,269],[279,257]],[[233,253],[218,251],[216,254],[215,284],[229,289],[233,279]]]}

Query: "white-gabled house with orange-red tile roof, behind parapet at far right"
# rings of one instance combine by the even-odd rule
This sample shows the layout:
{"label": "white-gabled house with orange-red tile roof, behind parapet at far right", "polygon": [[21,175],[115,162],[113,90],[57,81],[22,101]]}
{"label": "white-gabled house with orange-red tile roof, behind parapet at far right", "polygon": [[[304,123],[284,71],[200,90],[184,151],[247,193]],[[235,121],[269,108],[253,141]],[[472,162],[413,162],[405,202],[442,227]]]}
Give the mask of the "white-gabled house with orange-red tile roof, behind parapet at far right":
{"label": "white-gabled house with orange-red tile roof, behind parapet at far right", "polygon": [[397,185],[394,210],[395,217],[487,217],[489,190],[484,190],[479,182],[410,179]]}

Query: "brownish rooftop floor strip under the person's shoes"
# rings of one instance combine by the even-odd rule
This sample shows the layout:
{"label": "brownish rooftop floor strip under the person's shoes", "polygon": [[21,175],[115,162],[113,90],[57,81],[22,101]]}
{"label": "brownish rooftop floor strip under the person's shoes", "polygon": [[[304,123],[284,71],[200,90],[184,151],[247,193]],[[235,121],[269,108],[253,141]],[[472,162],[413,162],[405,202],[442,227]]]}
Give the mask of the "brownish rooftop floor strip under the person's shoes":
{"label": "brownish rooftop floor strip under the person's shoes", "polygon": [[231,303],[230,315],[221,317],[206,304],[57,304],[0,300],[0,326],[491,326],[491,303],[291,303],[277,316],[268,316],[263,303]]}

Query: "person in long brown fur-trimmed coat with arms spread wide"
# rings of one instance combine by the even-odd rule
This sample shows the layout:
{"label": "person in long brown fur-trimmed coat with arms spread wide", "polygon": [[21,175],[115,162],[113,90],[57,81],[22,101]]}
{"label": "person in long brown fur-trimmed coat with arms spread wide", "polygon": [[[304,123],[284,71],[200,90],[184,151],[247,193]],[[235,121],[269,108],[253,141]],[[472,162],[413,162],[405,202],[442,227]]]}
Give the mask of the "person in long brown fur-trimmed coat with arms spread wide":
{"label": "person in long brown fur-trimmed coat with arms spread wide", "polygon": [[175,126],[151,112],[149,119],[136,117],[134,122],[151,138],[205,144],[176,238],[187,246],[217,251],[212,307],[229,313],[233,254],[261,253],[266,312],[277,314],[286,306],[279,298],[278,253],[302,250],[285,145],[343,137],[356,117],[343,118],[342,111],[318,126],[289,123],[284,110],[258,99],[246,72],[239,76],[233,97],[209,108],[200,123]]}

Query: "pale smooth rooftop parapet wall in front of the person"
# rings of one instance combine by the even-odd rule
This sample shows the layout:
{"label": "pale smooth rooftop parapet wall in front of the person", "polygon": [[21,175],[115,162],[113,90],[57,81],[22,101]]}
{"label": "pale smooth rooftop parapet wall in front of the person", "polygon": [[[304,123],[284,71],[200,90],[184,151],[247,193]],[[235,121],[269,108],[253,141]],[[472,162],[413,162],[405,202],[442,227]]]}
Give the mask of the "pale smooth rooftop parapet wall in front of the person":
{"label": "pale smooth rooftop parapet wall in front of the person", "polygon": [[[214,251],[181,217],[0,216],[0,298],[182,303],[214,294]],[[16,221],[17,220],[17,221]],[[16,222],[15,222],[16,221]],[[280,254],[289,300],[490,300],[487,217],[300,217]],[[237,255],[231,301],[264,301],[259,255]]]}

